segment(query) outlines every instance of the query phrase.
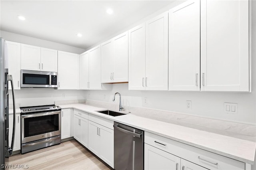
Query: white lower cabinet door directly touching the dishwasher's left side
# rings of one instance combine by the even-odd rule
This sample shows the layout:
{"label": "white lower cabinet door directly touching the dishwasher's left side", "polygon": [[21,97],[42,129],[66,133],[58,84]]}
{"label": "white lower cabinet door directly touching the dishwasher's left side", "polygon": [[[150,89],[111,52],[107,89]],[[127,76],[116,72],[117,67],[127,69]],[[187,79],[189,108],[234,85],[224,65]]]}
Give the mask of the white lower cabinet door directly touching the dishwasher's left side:
{"label": "white lower cabinet door directly touching the dishwasher's left side", "polygon": [[114,168],[114,130],[100,126],[100,158]]}

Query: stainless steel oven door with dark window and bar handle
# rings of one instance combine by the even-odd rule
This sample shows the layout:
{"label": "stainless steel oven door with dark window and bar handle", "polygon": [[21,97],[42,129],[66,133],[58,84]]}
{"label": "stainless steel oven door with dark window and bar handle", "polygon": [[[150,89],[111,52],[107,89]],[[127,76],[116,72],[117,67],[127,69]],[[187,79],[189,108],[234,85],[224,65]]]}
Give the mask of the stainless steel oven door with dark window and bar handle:
{"label": "stainless steel oven door with dark window and bar handle", "polygon": [[21,143],[60,135],[61,111],[21,115]]}

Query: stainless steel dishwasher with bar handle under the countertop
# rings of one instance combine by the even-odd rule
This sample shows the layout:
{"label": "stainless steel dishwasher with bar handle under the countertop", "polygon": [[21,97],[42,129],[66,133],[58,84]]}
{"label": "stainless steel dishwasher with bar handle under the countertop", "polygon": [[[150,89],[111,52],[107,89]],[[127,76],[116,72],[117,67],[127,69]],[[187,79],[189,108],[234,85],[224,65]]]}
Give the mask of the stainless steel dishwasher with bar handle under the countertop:
{"label": "stainless steel dishwasher with bar handle under the countertop", "polygon": [[114,122],[114,169],[144,169],[144,131]]}

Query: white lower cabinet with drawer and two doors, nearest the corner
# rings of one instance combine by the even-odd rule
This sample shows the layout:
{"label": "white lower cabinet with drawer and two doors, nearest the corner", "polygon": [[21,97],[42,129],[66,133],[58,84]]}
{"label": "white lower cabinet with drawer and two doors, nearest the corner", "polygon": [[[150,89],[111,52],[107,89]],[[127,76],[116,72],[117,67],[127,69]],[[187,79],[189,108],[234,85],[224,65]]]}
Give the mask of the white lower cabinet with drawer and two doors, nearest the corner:
{"label": "white lower cabinet with drawer and two doors, nearest the corner", "polygon": [[88,148],[88,113],[74,110],[74,138]]}

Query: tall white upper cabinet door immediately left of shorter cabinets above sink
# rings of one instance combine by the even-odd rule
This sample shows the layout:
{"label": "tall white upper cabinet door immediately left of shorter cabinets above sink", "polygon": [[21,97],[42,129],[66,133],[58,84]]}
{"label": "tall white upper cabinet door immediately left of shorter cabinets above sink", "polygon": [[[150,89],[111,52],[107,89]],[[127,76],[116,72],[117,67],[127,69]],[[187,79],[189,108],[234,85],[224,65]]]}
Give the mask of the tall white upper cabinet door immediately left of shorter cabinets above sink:
{"label": "tall white upper cabinet door immediately left of shorter cabinets above sink", "polygon": [[101,89],[101,52],[100,45],[89,51],[89,89]]}

